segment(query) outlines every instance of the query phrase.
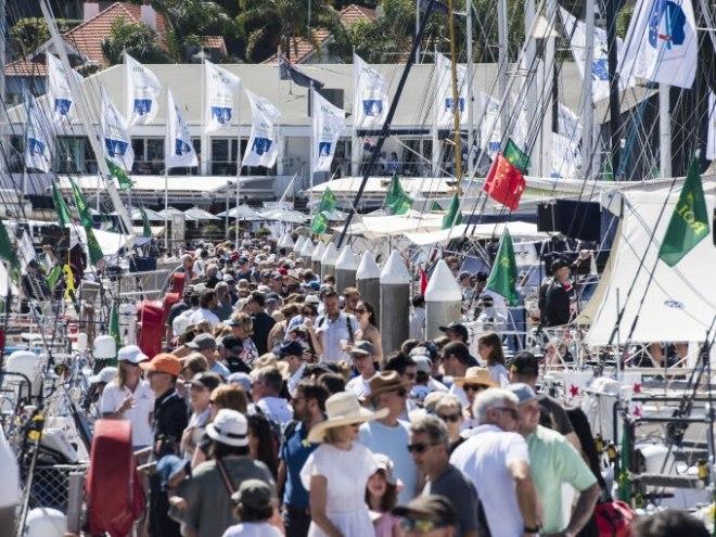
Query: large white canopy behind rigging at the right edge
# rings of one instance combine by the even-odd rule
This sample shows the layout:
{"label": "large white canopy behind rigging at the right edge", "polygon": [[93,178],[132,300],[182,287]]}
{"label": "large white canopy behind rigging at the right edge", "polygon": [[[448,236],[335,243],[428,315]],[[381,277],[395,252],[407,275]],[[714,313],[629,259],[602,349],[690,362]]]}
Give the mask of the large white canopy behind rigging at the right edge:
{"label": "large white canopy behind rigging at the right edge", "polygon": [[[714,210],[715,196],[709,194],[713,188],[714,184],[704,182],[708,215]],[[600,283],[605,289],[594,292],[594,299],[601,304],[587,334],[590,345],[605,345],[610,340],[612,344],[624,343],[637,315],[634,342],[704,341],[716,312],[713,280],[716,248],[711,236],[699,242],[674,267],[657,260],[679,190],[675,189],[668,196],[661,219],[662,205],[667,199],[663,191],[611,192],[602,203],[621,207],[621,235],[610,256],[611,270]],[[647,287],[652,269],[653,279]],[[624,316],[615,332],[617,315],[623,308]]]}

